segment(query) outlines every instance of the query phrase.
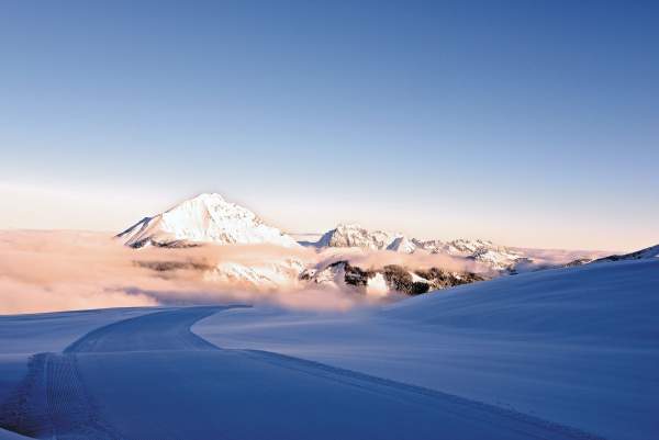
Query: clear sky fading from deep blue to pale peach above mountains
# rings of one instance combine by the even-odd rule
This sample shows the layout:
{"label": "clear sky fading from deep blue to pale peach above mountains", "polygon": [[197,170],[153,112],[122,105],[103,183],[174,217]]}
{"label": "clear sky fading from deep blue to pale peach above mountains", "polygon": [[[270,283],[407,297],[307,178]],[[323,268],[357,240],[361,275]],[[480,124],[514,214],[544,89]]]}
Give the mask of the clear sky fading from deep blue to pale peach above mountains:
{"label": "clear sky fading from deep blue to pale peach above mountains", "polygon": [[659,242],[659,3],[0,3],[0,228]]}

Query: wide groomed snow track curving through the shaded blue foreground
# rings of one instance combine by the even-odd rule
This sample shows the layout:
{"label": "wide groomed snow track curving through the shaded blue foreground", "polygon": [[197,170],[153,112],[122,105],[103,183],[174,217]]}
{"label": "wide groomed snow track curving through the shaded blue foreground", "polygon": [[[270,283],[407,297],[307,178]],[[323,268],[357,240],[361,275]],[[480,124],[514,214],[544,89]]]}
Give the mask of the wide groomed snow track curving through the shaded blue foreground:
{"label": "wide groomed snow track curving through the shaded blue foreground", "polygon": [[126,319],[36,356],[2,426],[64,440],[595,439],[348,370],[220,349],[190,326],[221,308]]}

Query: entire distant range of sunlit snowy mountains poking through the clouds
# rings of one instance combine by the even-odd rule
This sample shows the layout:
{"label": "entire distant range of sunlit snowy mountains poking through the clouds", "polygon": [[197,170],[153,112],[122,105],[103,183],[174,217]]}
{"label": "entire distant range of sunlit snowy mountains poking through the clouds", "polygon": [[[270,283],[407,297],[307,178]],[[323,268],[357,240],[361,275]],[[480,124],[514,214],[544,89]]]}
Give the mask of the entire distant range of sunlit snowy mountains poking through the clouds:
{"label": "entire distant range of sunlit snowy mountains poking through the clouds", "polygon": [[[355,224],[340,224],[323,234],[317,241],[298,242],[291,235],[265,224],[255,213],[227,202],[216,193],[204,193],[183,201],[172,208],[144,217],[116,235],[126,246],[181,248],[203,245],[272,245],[283,248],[313,248],[317,253],[334,248],[358,250],[362,253],[388,251],[404,255],[443,255],[451,259],[473,261],[478,273],[449,271],[442,267],[359,267],[349,258],[336,255],[317,261],[302,261],[297,257],[268,260],[249,264],[221,261],[206,268],[204,278],[222,282],[246,282],[256,287],[272,289],[287,283],[311,282],[353,289],[358,292],[386,296],[392,292],[424,293],[466,282],[501,274],[539,270],[562,266],[589,263],[601,257],[584,252],[569,261],[547,262],[537,250],[509,248],[482,239],[417,239],[388,230],[368,230]],[[309,238],[306,235],[304,238]],[[659,246],[624,256],[595,259],[596,262],[657,257]]]}

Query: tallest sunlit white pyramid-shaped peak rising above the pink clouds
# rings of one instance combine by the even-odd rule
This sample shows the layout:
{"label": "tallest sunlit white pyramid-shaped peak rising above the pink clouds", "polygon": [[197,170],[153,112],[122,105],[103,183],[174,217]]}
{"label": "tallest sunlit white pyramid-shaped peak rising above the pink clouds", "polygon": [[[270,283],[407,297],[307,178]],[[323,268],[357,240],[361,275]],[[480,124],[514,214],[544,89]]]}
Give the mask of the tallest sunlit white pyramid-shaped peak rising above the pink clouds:
{"label": "tallest sunlit white pyramid-shaped peak rising above the pink clouds", "polygon": [[216,193],[200,194],[161,214],[145,217],[116,237],[134,248],[199,242],[298,246],[292,237],[266,225],[252,211],[226,202]]}

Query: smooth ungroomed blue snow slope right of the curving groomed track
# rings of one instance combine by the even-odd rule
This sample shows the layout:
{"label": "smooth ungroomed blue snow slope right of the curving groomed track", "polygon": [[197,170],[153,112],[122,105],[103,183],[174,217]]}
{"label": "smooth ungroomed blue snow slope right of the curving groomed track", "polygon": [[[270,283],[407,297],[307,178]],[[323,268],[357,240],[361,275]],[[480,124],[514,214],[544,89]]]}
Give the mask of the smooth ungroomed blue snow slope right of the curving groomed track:
{"label": "smooth ungroomed blue snow slope right of the curving groomed track", "polygon": [[[241,309],[193,330],[611,439],[659,436],[659,261],[549,270],[348,315]],[[485,437],[487,438],[487,437]]]}

